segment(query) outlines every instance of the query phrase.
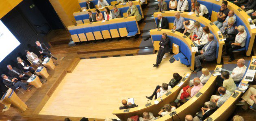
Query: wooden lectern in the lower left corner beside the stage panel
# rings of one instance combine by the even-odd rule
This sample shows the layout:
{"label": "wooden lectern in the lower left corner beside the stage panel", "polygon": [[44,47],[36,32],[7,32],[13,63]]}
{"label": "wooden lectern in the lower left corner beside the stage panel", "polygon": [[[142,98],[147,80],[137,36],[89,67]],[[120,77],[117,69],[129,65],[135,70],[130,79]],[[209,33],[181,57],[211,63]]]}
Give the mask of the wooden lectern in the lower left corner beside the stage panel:
{"label": "wooden lectern in the lower left corner beside the stage panel", "polygon": [[9,90],[2,96],[0,102],[4,105],[11,104],[11,107],[18,113],[26,111],[26,108],[28,107],[11,88],[9,88]]}

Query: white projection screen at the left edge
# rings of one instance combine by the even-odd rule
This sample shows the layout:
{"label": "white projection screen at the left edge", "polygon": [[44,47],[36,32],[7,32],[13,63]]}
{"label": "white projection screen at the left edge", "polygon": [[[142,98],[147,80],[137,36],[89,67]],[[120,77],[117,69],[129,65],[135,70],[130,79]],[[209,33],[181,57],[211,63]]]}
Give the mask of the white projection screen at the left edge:
{"label": "white projection screen at the left edge", "polygon": [[20,42],[0,20],[0,62],[19,45]]}

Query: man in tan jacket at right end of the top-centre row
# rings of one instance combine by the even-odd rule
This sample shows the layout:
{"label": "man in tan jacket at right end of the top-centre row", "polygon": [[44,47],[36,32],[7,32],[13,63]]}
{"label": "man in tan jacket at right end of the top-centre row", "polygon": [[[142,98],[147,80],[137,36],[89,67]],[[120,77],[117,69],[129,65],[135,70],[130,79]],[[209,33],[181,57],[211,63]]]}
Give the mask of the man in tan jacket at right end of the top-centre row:
{"label": "man in tan jacket at right end of the top-centre row", "polygon": [[[133,5],[133,2],[129,1],[128,5],[129,5],[129,8],[127,10],[127,16],[129,16],[129,17],[135,16],[136,21],[141,20],[141,15],[139,14],[139,10],[135,5]],[[130,13],[130,15],[129,15],[129,13]]]}

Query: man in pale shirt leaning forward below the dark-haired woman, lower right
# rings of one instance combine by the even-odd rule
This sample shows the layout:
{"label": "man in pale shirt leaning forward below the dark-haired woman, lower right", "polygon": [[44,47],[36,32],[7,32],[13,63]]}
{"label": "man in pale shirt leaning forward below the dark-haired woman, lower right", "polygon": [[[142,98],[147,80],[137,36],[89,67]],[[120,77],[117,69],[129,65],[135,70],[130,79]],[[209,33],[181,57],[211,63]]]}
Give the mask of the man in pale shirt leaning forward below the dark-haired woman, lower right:
{"label": "man in pale shirt leaning forward below the dark-haired woman, lower right", "polygon": [[[230,93],[224,87],[219,87],[218,92],[219,92],[219,94],[221,94],[221,96],[212,95],[210,97],[210,101],[215,102],[217,104],[217,106],[220,107],[222,104],[224,104],[224,102],[226,102],[228,100],[228,98],[232,95],[232,93]],[[205,102],[204,105],[207,106],[210,101]]]}

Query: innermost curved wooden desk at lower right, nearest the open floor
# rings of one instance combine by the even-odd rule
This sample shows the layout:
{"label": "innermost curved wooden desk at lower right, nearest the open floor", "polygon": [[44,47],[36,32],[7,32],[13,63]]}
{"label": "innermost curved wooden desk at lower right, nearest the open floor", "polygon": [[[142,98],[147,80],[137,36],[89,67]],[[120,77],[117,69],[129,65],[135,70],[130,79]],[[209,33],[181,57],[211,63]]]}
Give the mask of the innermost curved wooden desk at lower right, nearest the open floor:
{"label": "innermost curved wooden desk at lower right, nearest the open floor", "polygon": [[[121,121],[126,121],[126,119],[128,119],[129,117],[135,116],[135,115],[139,115],[142,116],[143,112],[147,111],[147,112],[151,112],[154,115],[158,115],[158,112],[160,111],[160,109],[165,105],[168,104],[170,102],[174,102],[174,100],[176,100],[176,97],[178,96],[180,90],[184,87],[187,86],[187,84],[189,83],[190,80],[190,75],[191,72],[186,73],[186,75],[189,74],[189,77],[185,80],[182,79],[182,81],[184,81],[184,83],[182,84],[181,87],[175,86],[174,88],[172,88],[170,90],[171,94],[169,94],[168,96],[166,96],[165,94],[162,96],[163,101],[161,101],[160,98],[157,98],[156,100],[158,100],[158,104],[154,103],[154,100],[149,101],[148,103],[151,103],[152,105],[150,106],[145,106],[145,105],[139,105],[138,107],[135,108],[130,108],[129,112],[124,113],[124,111],[126,110],[114,110],[113,114],[116,115]],[[118,108],[118,107],[117,107]]]}

